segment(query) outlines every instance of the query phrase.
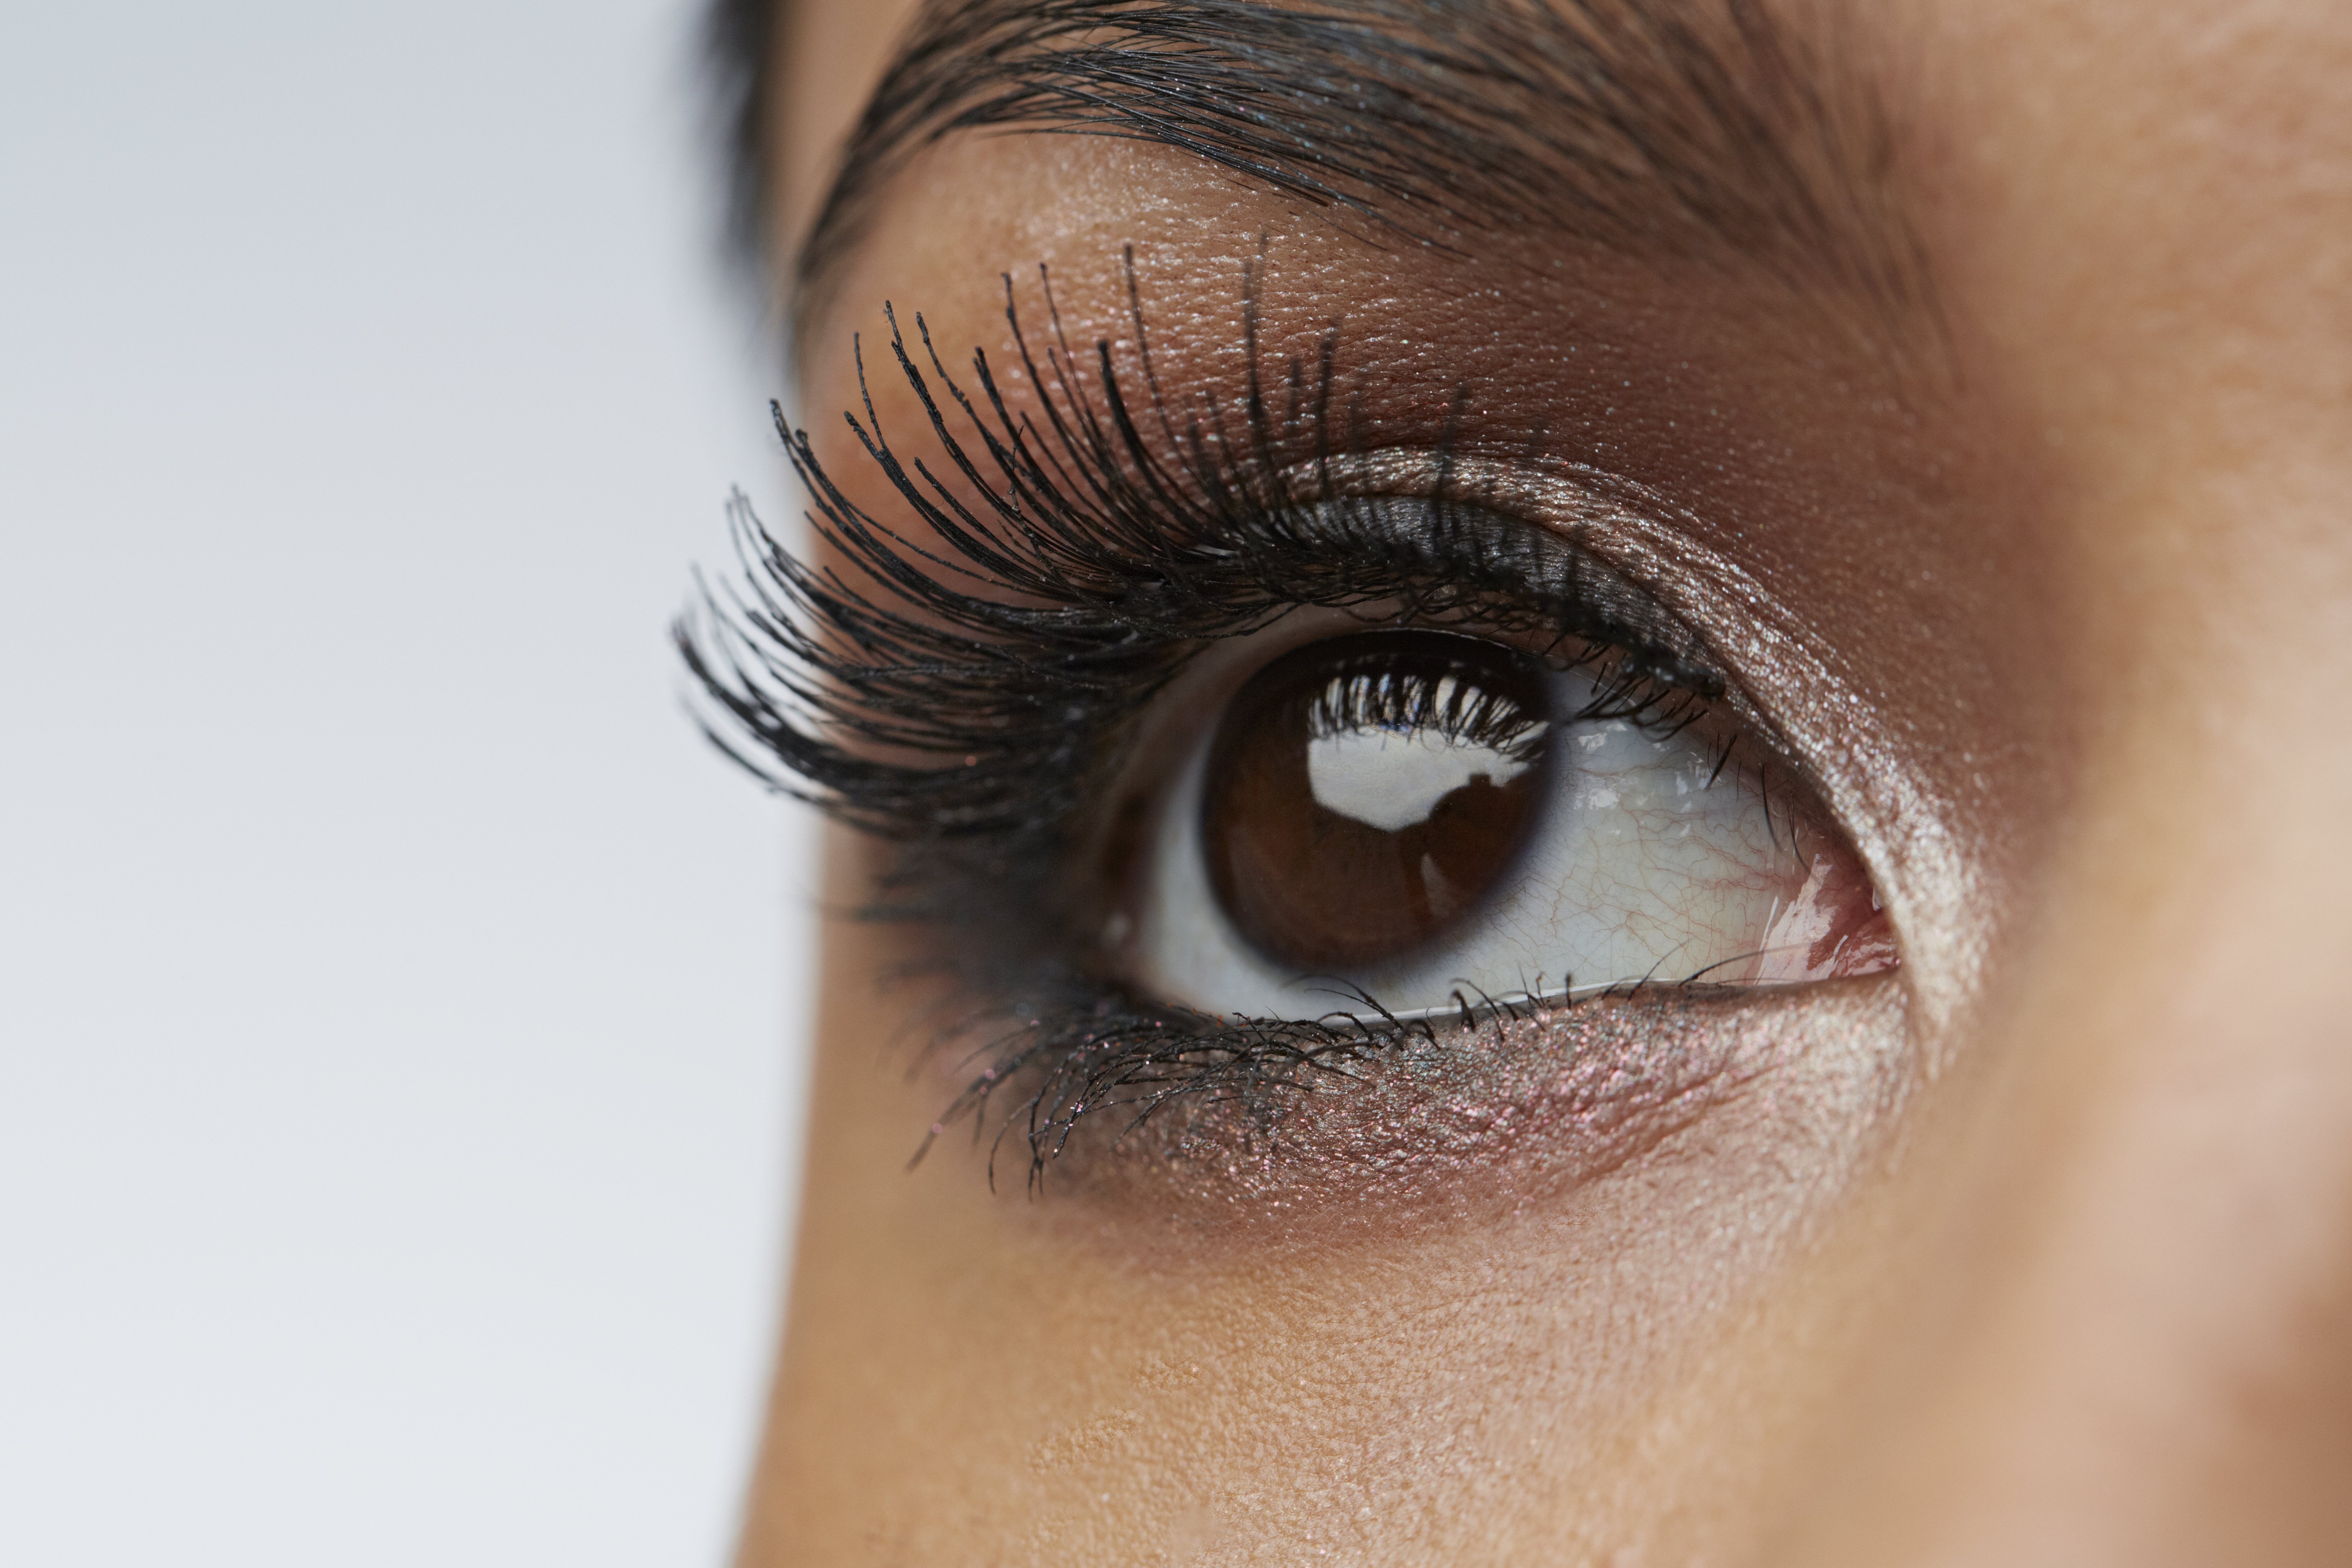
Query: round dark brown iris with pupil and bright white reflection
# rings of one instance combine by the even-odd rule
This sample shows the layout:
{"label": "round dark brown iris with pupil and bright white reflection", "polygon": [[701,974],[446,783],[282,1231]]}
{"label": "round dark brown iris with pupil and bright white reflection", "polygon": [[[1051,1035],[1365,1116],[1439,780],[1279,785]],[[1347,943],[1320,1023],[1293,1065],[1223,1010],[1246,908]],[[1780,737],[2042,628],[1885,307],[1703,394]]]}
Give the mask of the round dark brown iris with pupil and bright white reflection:
{"label": "round dark brown iris with pupil and bright white reflection", "polygon": [[1364,632],[1284,654],[1209,752],[1202,842],[1225,914],[1310,971],[1423,947],[1510,872],[1548,741],[1541,665],[1477,637]]}

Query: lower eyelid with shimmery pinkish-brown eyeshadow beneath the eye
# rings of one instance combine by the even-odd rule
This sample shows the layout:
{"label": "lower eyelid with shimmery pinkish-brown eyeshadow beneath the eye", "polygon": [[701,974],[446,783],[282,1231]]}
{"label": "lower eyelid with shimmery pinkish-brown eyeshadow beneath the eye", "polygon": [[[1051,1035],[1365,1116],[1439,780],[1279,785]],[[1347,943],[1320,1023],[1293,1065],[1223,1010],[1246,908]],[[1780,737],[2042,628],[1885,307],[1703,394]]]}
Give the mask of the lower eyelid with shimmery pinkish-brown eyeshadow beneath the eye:
{"label": "lower eyelid with shimmery pinkish-brown eyeshadow beneath the eye", "polygon": [[[1058,1199],[1181,1204],[1183,1234],[1204,1244],[1225,1229],[1392,1237],[1578,1190],[1771,1086],[1820,1135],[1853,1138],[1896,1100],[1903,1030],[1900,987],[1877,980],[1505,1001],[1247,1093],[1228,1081],[1141,1121],[1084,1119],[1033,1180]],[[1785,1119],[1776,1135],[1792,1135]]]}

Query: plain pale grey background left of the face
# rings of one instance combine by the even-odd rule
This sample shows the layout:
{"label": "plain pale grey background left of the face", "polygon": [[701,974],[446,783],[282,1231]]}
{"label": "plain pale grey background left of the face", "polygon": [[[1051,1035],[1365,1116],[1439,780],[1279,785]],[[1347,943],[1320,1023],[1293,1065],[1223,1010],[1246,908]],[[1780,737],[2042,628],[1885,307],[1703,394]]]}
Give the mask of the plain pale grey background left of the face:
{"label": "plain pale grey background left of the face", "polygon": [[675,0],[0,7],[0,1561],[713,1563],[804,823]]}

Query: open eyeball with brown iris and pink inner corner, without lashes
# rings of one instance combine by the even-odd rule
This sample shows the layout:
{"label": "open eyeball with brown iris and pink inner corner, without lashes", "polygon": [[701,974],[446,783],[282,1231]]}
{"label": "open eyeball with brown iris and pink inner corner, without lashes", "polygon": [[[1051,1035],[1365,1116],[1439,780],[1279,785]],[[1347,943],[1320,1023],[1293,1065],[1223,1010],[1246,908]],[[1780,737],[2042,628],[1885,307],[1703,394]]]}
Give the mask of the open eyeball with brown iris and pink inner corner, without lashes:
{"label": "open eyeball with brown iris and pink inner corner, without lashes", "polygon": [[1776,799],[1705,686],[1621,649],[1345,630],[1183,745],[1124,919],[1134,973],[1204,1013],[1475,1020],[1896,961],[1806,788]]}

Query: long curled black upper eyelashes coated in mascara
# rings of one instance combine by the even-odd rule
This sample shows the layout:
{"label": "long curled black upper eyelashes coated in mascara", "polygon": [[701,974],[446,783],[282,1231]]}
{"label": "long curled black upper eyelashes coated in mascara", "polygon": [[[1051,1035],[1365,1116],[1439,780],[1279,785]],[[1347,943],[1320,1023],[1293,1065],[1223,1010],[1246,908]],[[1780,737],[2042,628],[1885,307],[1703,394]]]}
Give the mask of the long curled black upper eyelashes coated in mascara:
{"label": "long curled black upper eyelashes coated in mascara", "polygon": [[[1623,649],[1625,691],[1722,691],[1693,637],[1663,618],[1632,625],[1639,611],[1625,611],[1621,588],[1621,602],[1602,609],[1609,595],[1595,590],[1597,567],[1573,550],[1555,548],[1564,571],[1531,581],[1526,555],[1552,543],[1536,529],[1512,524],[1519,538],[1498,538],[1468,498],[1439,491],[1421,503],[1437,538],[1416,543],[1385,524],[1383,498],[1343,494],[1322,465],[1334,449],[1336,331],[1324,336],[1312,388],[1301,362],[1287,367],[1277,423],[1258,378],[1247,275],[1251,369],[1240,435],[1214,397],[1176,428],[1141,306],[1131,306],[1150,418],[1174,461],[1152,451],[1138,428],[1110,343],[1094,346],[1096,397],[1075,374],[1077,357],[1054,313],[1042,376],[1009,277],[1004,289],[1023,371],[1054,393],[1042,400],[1047,428],[1009,411],[985,353],[976,353],[993,423],[983,418],[948,376],[922,317],[915,322],[931,376],[967,416],[995,482],[950,430],[891,315],[891,355],[941,454],[988,515],[974,515],[920,458],[906,463],[882,437],[861,353],[866,418],[844,418],[931,538],[908,538],[849,501],[809,435],[783,428],[779,414],[793,468],[816,505],[818,545],[863,583],[814,567],[739,503],[750,602],[706,592],[701,614],[675,625],[708,701],[767,762],[748,757],[717,724],[706,733],[771,788],[891,839],[1028,827],[1068,804],[1040,809],[1037,783],[1070,780],[1075,790],[1091,771],[1084,731],[1141,708],[1174,675],[1178,651],[1256,630],[1303,604],[1402,599],[1423,623],[1477,614],[1501,632]],[[1051,308],[1051,292],[1047,299]],[[1315,456],[1303,473],[1282,463],[1298,447]]]}

